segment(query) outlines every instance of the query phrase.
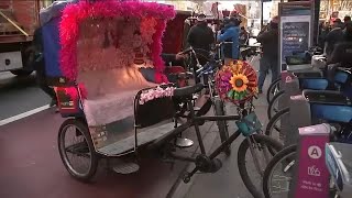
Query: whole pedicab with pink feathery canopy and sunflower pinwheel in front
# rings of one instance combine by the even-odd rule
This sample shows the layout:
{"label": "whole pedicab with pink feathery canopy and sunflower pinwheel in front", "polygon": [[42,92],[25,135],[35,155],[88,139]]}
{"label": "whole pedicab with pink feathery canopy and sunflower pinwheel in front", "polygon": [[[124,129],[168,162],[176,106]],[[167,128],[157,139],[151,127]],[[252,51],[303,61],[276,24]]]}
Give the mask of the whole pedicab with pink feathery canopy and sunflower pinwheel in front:
{"label": "whole pedicab with pink feathery canopy and sunflower pinwheel in front", "polygon": [[[185,173],[187,183],[198,170],[220,169],[217,156],[243,134],[240,175],[246,186],[253,187],[243,160],[245,153],[267,146],[274,151],[282,148],[275,140],[257,134],[261,124],[252,103],[257,91],[256,74],[248,64],[239,62],[217,75],[219,96],[234,102],[241,100],[239,114],[196,114],[193,95],[201,91],[204,85],[176,88],[168,82],[163,74],[161,41],[167,20],[174,15],[173,7],[155,2],[79,1],[68,3],[59,18],[43,25],[46,73],[55,87],[59,112],[66,118],[58,131],[58,151],[75,178],[90,180],[101,157],[125,160],[114,165],[113,170],[132,173],[139,168],[141,152],[158,151],[196,164],[193,172]],[[153,82],[146,80],[141,67],[154,68]],[[231,89],[233,86],[240,86],[237,88],[240,95]],[[189,114],[182,124],[180,102],[187,103]],[[219,120],[237,121],[240,130],[207,155],[200,122]],[[196,157],[177,156],[173,142],[190,127],[195,128],[201,153]],[[253,158],[257,161],[257,156]]]}

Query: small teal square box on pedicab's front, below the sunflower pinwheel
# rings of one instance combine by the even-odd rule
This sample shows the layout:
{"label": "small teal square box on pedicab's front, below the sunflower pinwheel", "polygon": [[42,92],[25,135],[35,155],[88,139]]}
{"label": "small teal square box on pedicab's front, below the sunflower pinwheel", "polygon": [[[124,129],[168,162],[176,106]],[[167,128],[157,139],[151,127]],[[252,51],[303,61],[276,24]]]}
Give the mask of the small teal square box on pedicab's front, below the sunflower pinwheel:
{"label": "small teal square box on pedicab's front, below the sunflower pinwheel", "polygon": [[262,128],[262,123],[255,112],[251,112],[246,117],[237,121],[235,124],[244,136],[249,136]]}

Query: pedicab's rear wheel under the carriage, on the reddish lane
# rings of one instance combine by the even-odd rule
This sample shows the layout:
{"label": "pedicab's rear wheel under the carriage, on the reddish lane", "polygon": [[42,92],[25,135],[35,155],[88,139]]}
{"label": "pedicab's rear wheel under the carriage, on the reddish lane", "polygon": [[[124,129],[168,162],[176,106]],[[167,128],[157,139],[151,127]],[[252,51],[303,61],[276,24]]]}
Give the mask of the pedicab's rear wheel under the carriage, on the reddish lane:
{"label": "pedicab's rear wheel under the carriage, on the reddish lane", "polygon": [[[69,132],[73,132],[72,138],[68,138]],[[57,141],[59,155],[68,173],[80,182],[90,182],[97,172],[99,158],[88,127],[80,120],[68,119],[61,125]],[[86,164],[77,165],[79,160],[86,160]]]}

